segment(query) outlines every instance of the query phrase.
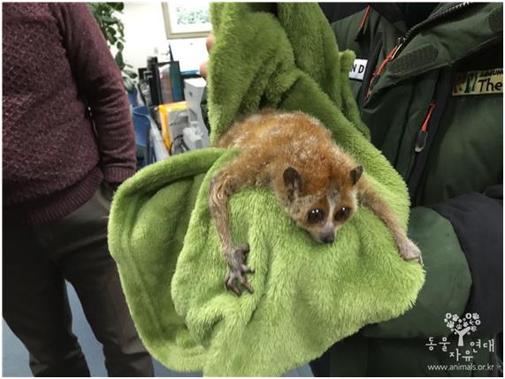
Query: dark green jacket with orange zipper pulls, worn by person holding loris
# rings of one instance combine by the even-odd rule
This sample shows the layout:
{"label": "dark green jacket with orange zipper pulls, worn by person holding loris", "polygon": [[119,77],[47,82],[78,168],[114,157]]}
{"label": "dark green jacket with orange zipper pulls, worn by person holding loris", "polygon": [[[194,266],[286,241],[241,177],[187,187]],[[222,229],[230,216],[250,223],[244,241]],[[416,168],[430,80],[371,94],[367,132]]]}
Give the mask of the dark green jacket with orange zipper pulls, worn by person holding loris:
{"label": "dark green jacket with orange zipper pulls, worn by person holding loris", "polygon": [[[371,141],[409,185],[426,283],[413,309],[340,341],[312,369],[493,375],[498,342],[476,346],[502,330],[502,4],[321,6],[339,49],[356,52],[351,86]],[[448,313],[479,316],[463,346]]]}

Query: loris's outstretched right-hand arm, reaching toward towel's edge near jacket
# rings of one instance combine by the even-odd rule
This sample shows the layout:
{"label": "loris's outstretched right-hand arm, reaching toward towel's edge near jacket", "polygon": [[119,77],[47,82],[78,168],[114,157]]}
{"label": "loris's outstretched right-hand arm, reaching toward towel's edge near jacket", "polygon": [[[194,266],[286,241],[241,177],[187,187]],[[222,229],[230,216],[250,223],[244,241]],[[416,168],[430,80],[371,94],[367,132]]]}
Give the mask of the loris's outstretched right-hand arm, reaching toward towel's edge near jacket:
{"label": "loris's outstretched right-hand arm, reaching toward towel's edge near jacket", "polygon": [[386,224],[391,233],[393,234],[394,242],[402,258],[406,261],[417,260],[417,262],[423,264],[423,259],[421,257],[421,250],[412,242],[407,234],[402,230],[398,220],[393,214],[393,210],[386,201],[383,201],[377,193],[375,193],[371,187],[366,183],[362,182],[359,189],[359,199],[363,205],[371,208],[373,213]]}

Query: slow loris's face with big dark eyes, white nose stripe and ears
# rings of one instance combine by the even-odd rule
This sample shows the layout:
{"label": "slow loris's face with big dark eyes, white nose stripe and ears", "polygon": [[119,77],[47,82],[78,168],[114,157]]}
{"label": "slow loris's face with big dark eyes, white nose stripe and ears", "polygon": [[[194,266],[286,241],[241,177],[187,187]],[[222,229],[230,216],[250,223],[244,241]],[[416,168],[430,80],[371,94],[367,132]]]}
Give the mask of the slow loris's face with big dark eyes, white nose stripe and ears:
{"label": "slow loris's face with big dark eyes, white nose stripe and ears", "polygon": [[337,229],[356,212],[356,182],[363,167],[357,166],[346,172],[343,177],[338,174],[314,186],[310,174],[302,178],[292,167],[284,171],[286,193],[279,197],[283,198],[287,213],[296,224],[319,243],[332,243]]}

